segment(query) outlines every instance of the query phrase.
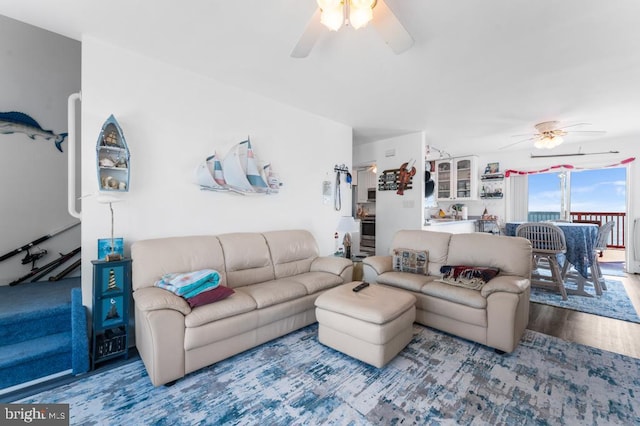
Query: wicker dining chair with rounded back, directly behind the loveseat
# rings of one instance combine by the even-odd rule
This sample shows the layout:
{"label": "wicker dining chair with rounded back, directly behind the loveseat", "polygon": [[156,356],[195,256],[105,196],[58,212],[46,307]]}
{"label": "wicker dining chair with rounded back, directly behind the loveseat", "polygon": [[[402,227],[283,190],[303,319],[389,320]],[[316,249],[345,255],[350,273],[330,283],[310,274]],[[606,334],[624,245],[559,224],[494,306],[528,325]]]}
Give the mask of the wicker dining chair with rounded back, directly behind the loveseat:
{"label": "wicker dining chair with rounded back, directly behind the loveseat", "polygon": [[536,277],[538,279],[532,280],[532,284],[557,289],[560,291],[562,300],[567,300],[567,290],[564,287],[557,257],[558,254],[567,251],[567,243],[562,229],[552,223],[527,222],[516,228],[516,236],[531,241],[534,268],[537,268],[541,260],[546,260],[549,263],[551,281],[538,276]]}

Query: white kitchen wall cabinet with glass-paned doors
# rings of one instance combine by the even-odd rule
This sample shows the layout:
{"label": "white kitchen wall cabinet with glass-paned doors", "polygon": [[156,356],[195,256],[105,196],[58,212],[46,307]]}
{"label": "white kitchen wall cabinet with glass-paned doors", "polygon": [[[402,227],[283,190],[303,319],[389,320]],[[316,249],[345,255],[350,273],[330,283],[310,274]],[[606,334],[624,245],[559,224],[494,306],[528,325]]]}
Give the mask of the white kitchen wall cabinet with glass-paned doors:
{"label": "white kitchen wall cabinet with glass-paned doors", "polygon": [[469,156],[436,161],[436,198],[439,201],[477,199],[476,159]]}

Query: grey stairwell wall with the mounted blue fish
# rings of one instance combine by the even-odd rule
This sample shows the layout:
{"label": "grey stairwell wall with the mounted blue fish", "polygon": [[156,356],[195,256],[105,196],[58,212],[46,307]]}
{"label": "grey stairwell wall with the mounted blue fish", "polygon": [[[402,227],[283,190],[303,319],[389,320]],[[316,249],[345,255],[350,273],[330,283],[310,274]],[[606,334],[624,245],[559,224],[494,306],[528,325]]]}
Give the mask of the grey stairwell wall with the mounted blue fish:
{"label": "grey stairwell wall with the mounted blue fish", "polygon": [[[46,130],[67,132],[67,98],[80,90],[80,53],[75,40],[0,16],[0,111],[23,112]],[[77,222],[67,213],[67,145],[60,153],[52,141],[0,134],[0,255]],[[48,254],[37,266],[79,245],[78,226],[41,243]],[[0,285],[29,273],[24,256],[0,263]]]}

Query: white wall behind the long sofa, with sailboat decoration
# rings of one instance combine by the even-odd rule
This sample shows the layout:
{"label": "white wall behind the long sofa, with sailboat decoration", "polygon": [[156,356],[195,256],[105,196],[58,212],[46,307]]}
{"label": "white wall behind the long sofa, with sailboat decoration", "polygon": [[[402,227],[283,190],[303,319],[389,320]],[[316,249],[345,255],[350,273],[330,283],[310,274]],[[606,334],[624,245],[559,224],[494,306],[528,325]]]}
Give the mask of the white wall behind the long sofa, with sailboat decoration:
{"label": "white wall behind the long sofa, with sailboat decoration", "polygon": [[[203,52],[215,55],[215,52]],[[320,252],[333,252],[340,216],[323,204],[322,181],[336,164],[351,167],[351,128],[252,93],[139,56],[94,38],[82,43],[82,192],[98,189],[95,144],[110,114],[131,151],[130,190],[114,204],[115,234],[132,242],[176,235],[304,228]],[[284,182],[279,194],[241,196],[201,191],[196,166],[251,136],[256,155]],[[96,240],[109,236],[109,209],[83,200],[83,293],[90,305]]]}

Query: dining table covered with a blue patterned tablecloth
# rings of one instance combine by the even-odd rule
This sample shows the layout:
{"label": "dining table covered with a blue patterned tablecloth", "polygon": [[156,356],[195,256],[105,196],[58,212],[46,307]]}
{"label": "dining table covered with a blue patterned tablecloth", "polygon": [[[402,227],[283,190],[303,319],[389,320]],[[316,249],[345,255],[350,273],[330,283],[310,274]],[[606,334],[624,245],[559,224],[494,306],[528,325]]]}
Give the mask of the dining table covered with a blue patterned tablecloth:
{"label": "dining table covered with a blue patterned tablecloth", "polygon": [[[507,222],[505,224],[505,234],[516,235],[518,225],[525,222]],[[597,280],[593,267],[593,253],[598,240],[598,225],[593,223],[572,223],[572,222],[550,222],[560,228],[564,234],[567,251],[564,255],[558,255],[558,263],[562,265],[563,279],[567,275],[570,266],[577,271],[578,290],[574,294],[581,296],[591,296],[584,290],[587,281]],[[593,283],[596,293],[601,294],[599,283]]]}

